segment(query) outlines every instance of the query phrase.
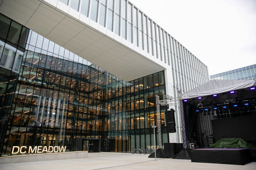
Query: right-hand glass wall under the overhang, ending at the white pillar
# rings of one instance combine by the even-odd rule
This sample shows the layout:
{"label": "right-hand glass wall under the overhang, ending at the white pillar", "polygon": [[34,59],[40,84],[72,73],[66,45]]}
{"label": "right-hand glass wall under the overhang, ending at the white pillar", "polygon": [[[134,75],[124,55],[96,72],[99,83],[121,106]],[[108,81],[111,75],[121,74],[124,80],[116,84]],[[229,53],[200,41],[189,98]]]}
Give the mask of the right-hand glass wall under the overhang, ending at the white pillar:
{"label": "right-hand glass wall under the overhang, ending at the white pillar", "polygon": [[[160,100],[164,98],[163,72],[129,82],[110,80],[109,77],[106,81],[110,84],[106,85],[103,121],[103,140],[110,142],[110,151],[131,152],[134,148],[154,145],[151,128],[153,122],[157,122],[154,98],[155,95],[159,95]],[[165,106],[161,106],[162,142],[167,143],[164,110]]]}

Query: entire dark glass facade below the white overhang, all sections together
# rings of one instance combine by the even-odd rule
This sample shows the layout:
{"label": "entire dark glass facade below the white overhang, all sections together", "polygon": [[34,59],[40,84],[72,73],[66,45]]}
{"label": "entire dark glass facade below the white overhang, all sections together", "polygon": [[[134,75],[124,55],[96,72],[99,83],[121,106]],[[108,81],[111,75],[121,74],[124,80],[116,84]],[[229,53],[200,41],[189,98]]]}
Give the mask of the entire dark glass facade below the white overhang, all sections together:
{"label": "entire dark glass facade below the white overhang, all sections together", "polygon": [[[79,138],[101,139],[102,149],[109,152],[153,145],[154,96],[163,99],[165,94],[163,71],[124,82],[21,25],[19,34],[13,32],[18,23],[1,15],[3,22],[9,29],[6,36],[1,34],[1,73],[13,78],[1,75],[1,85],[9,86],[1,93],[1,154],[22,145],[64,145],[74,151]],[[9,38],[11,34],[18,38]],[[7,59],[11,61],[2,62]],[[108,148],[103,146],[106,141]]]}

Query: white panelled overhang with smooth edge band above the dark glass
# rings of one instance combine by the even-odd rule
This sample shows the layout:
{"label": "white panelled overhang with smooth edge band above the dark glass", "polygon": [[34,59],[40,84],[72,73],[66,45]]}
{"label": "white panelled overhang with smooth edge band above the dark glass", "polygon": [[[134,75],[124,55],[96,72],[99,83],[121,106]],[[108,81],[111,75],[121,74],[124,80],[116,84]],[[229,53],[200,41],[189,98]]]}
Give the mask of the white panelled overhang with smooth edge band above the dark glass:
{"label": "white panelled overhang with smooth edge band above the dark glass", "polygon": [[57,0],[3,0],[0,12],[113,75],[164,70],[158,59]]}

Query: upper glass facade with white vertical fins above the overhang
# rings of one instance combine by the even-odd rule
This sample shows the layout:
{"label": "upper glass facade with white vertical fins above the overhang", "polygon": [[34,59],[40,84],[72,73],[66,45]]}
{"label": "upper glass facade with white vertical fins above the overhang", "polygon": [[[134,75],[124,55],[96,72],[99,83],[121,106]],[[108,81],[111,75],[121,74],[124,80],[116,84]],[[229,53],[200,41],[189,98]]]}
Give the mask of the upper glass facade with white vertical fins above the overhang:
{"label": "upper glass facade with white vertical fins above the overhang", "polygon": [[[207,66],[128,0],[101,0],[98,8],[93,5],[93,2],[98,3],[97,0],[80,1],[78,12],[97,22],[99,27],[103,26],[101,29],[105,27],[115,33],[115,37],[120,36],[129,45],[145,51],[142,55],[152,55],[152,59],[159,59],[169,68],[172,80],[168,81],[172,81],[172,87],[168,86],[168,91],[173,97],[178,97],[179,90],[185,93],[209,81]],[[71,7],[71,4],[65,4]],[[92,13],[92,10],[99,13],[99,20],[90,16],[88,11]],[[179,107],[174,109],[178,124],[177,142],[182,142]]]}

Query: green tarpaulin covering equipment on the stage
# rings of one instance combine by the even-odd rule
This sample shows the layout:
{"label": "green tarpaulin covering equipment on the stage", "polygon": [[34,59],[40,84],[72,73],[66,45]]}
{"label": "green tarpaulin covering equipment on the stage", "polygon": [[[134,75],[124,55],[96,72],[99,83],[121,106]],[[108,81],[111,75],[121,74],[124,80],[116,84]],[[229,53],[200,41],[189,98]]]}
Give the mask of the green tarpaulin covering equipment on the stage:
{"label": "green tarpaulin covering equipment on the stage", "polygon": [[241,138],[223,138],[216,143],[211,144],[210,148],[252,148],[251,144],[248,144]]}

